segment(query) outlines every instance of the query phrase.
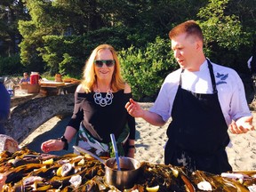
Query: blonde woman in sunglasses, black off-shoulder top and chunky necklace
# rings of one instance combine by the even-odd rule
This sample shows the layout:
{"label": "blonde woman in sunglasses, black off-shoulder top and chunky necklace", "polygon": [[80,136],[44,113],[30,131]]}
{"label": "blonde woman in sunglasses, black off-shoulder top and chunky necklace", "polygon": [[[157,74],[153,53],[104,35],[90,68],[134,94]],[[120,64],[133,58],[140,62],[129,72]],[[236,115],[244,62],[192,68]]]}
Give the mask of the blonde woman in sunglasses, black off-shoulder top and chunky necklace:
{"label": "blonde woman in sunglasses, black off-shoulder top and chunky necklace", "polygon": [[109,156],[110,134],[114,133],[120,155],[134,157],[135,120],[124,108],[132,91],[120,70],[111,45],[101,44],[93,50],[76,88],[74,112],[66,131],[58,140],[45,141],[41,146],[44,152],[68,149],[68,142],[78,132],[76,145],[98,156]]}

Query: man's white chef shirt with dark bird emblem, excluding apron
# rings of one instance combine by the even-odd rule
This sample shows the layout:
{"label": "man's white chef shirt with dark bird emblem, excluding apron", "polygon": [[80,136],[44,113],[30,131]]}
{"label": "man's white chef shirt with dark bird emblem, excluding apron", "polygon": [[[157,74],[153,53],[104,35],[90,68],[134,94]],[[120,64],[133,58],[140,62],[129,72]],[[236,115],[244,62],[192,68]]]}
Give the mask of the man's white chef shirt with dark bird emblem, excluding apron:
{"label": "man's white chef shirt with dark bird emblem, excluding apron", "polygon": [[[244,84],[236,71],[232,68],[223,67],[212,63],[215,76],[220,108],[227,125],[232,119],[242,116],[252,116],[245,98]],[[164,84],[158,93],[151,112],[162,116],[166,122],[171,117],[172,105],[180,81],[181,69],[173,71],[166,76]],[[181,75],[182,88],[197,93],[212,93],[212,80],[207,60],[204,61],[199,71],[190,72],[184,70]]]}

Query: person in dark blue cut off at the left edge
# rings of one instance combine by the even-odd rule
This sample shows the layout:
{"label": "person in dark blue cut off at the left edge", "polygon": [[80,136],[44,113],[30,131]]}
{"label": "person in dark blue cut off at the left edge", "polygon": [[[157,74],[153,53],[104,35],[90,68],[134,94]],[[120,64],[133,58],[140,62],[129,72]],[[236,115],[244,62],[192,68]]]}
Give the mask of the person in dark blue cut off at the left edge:
{"label": "person in dark blue cut off at the left edge", "polygon": [[4,78],[0,77],[0,134],[5,134],[4,122],[9,118],[11,97],[4,86]]}

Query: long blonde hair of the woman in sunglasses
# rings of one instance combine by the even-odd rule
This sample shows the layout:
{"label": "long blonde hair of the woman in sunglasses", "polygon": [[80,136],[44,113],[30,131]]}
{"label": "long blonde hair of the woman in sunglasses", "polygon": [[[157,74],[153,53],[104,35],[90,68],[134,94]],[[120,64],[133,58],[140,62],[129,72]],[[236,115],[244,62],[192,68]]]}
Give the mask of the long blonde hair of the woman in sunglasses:
{"label": "long blonde hair of the woman in sunglasses", "polygon": [[97,86],[97,77],[94,71],[94,60],[97,57],[98,52],[104,49],[108,49],[110,52],[112,52],[113,58],[116,61],[114,65],[114,73],[111,80],[111,89],[113,92],[124,89],[125,82],[123,77],[121,76],[121,67],[114,47],[109,44],[100,44],[92,51],[89,59],[85,62],[84,76],[81,84],[86,93],[92,92],[93,86]]}

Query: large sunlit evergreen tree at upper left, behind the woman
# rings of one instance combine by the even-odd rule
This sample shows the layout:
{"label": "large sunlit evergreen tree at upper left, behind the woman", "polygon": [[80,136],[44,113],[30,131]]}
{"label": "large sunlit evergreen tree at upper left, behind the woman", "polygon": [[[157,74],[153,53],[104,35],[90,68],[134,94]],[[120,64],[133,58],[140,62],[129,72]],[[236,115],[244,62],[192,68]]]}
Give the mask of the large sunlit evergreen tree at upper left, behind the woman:
{"label": "large sunlit evergreen tree at upper left, behind the woman", "polygon": [[52,74],[77,73],[84,66],[85,56],[92,51],[86,49],[88,44],[85,43],[89,41],[83,38],[97,32],[99,36],[95,41],[101,36],[105,36],[105,41],[109,37],[102,28],[111,27],[111,20],[104,17],[108,13],[98,12],[97,1],[26,0],[26,3],[31,20],[19,22],[20,34],[24,37],[20,56],[29,68],[43,66]]}

